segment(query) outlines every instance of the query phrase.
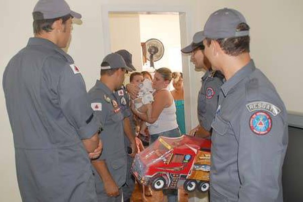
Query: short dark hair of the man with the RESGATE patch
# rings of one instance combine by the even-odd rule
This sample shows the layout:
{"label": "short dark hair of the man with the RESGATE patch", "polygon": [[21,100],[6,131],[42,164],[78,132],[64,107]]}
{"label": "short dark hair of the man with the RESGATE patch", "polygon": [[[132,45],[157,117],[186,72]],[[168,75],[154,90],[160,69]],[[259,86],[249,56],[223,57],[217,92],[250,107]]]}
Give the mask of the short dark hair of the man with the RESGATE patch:
{"label": "short dark hair of the man with the RESGATE patch", "polygon": [[[246,23],[240,23],[237,26],[237,31],[246,31],[249,30],[249,26]],[[211,44],[212,40],[216,40],[225,54],[230,56],[238,56],[242,53],[249,53],[249,36],[239,36],[239,37],[230,37],[230,38],[219,38],[211,39],[206,38],[207,45]]]}

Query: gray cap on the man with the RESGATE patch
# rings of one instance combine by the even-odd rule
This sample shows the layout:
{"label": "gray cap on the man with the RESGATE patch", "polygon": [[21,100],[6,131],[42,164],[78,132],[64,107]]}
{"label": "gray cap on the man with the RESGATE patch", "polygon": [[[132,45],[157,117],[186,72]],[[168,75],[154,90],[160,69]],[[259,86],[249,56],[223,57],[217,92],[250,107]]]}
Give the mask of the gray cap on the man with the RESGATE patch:
{"label": "gray cap on the man with the RESGATE patch", "polygon": [[197,32],[194,43],[203,41],[206,37],[212,39],[248,36],[249,31],[237,31],[240,23],[246,23],[244,16],[234,9],[220,9],[214,12],[204,26],[204,31]]}

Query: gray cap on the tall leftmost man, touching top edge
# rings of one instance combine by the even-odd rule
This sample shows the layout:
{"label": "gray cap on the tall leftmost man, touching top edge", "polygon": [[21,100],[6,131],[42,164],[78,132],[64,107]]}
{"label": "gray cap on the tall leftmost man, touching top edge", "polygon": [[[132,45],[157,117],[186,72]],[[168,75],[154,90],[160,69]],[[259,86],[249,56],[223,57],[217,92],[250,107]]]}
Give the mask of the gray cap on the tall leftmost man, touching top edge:
{"label": "gray cap on the tall leftmost man, touching top edge", "polygon": [[[35,12],[40,12],[42,15],[37,15]],[[39,0],[33,10],[33,19],[54,19],[68,14],[78,19],[82,17],[80,13],[72,11],[64,0]]]}

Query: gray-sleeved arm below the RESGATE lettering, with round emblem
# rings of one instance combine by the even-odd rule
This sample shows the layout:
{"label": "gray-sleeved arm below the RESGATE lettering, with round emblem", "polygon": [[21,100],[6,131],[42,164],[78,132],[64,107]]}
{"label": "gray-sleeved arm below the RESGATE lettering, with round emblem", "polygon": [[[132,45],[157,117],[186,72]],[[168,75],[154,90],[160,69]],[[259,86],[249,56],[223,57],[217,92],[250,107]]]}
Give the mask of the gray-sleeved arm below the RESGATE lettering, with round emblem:
{"label": "gray-sleeved arm below the RESGATE lettering, with round emblem", "polygon": [[273,202],[282,194],[282,165],[288,138],[287,115],[283,111],[275,114],[244,109],[240,117],[238,202]]}

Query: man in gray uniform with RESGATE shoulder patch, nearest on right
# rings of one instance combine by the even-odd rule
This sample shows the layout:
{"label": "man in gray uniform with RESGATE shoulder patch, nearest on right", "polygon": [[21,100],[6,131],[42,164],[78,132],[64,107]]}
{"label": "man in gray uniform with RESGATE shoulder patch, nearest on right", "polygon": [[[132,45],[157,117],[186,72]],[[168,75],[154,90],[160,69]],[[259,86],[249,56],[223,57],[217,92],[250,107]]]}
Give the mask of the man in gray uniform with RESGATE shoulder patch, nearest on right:
{"label": "man in gray uniform with RESGATE shoulder patch, nearest on right", "polygon": [[209,17],[199,40],[226,78],[212,123],[211,201],[282,202],[287,113],[250,59],[249,26],[238,11],[221,9]]}

